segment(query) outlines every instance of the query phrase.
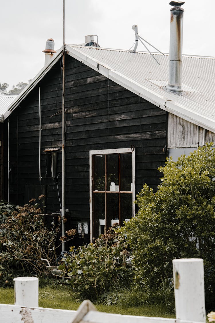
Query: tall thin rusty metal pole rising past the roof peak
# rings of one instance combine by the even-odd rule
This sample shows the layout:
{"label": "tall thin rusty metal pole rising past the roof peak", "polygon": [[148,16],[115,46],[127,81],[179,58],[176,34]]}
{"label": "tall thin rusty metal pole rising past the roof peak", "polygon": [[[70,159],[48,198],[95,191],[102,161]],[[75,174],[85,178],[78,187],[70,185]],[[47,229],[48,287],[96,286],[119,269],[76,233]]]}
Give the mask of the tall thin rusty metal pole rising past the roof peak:
{"label": "tall thin rusty metal pole rising past the roof peak", "polygon": [[[63,64],[62,64],[62,236],[65,235],[65,151],[64,151],[64,132],[65,132],[65,109],[64,109],[64,90],[65,90],[65,7],[63,0]],[[62,243],[62,251],[65,251],[65,242]]]}

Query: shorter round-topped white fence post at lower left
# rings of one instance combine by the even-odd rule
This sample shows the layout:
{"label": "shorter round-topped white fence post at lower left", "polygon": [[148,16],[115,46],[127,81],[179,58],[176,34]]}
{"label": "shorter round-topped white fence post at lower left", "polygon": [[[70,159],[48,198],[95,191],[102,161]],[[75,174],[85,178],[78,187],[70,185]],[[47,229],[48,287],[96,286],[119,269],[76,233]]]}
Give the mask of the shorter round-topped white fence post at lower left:
{"label": "shorter round-topped white fence post at lower left", "polygon": [[15,305],[38,307],[39,279],[36,277],[14,278]]}

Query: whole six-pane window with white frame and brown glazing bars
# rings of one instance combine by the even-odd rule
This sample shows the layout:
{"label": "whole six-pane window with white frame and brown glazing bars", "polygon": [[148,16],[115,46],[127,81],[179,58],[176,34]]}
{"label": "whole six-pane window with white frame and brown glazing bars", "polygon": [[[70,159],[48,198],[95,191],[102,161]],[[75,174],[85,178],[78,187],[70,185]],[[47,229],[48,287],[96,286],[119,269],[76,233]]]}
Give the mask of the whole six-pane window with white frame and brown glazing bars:
{"label": "whole six-pane window with white frame and brown glazing bars", "polygon": [[134,215],[134,151],[90,151],[91,239]]}

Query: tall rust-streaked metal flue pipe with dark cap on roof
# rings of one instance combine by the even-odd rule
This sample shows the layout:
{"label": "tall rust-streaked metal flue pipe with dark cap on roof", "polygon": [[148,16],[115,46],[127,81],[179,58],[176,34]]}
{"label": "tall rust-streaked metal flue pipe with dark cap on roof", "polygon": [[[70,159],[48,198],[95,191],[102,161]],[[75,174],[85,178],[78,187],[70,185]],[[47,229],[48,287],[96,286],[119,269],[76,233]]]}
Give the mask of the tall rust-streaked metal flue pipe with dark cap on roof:
{"label": "tall rust-streaked metal flue pipe with dark cap on roof", "polygon": [[181,68],[182,68],[182,41],[183,41],[183,12],[181,8],[184,1],[171,1],[170,5],[170,62],[169,82],[165,89],[173,93],[182,93]]}

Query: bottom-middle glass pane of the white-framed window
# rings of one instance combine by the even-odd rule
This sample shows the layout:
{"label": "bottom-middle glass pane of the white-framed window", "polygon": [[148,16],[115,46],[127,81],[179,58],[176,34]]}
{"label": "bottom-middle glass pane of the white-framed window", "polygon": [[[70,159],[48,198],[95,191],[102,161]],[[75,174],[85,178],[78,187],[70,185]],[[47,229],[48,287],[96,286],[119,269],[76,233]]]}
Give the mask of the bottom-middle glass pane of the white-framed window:
{"label": "bottom-middle glass pane of the white-framed window", "polygon": [[107,228],[113,223],[119,223],[119,193],[107,193]]}

